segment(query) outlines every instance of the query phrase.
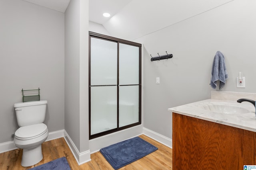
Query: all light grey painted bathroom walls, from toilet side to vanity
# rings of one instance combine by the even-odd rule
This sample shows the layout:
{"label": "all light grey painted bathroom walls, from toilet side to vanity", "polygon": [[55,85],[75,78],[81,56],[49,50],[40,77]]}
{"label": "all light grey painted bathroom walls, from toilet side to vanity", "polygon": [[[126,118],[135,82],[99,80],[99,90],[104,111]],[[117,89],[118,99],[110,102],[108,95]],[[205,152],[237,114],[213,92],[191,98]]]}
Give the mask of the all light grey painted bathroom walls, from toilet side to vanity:
{"label": "all light grey painted bathroom walls, from toilet side to vanity", "polygon": [[[255,93],[255,8],[253,0],[234,0],[134,40],[144,44],[145,128],[172,138],[167,109],[210,98],[210,72],[218,50],[226,57],[229,74],[222,91]],[[18,128],[13,104],[22,101],[21,88],[40,87],[41,99],[48,100],[49,131],[65,128],[79,152],[88,150],[86,10],[88,1],[71,0],[64,27],[63,13],[22,0],[0,0],[0,143],[12,141]],[[150,61],[150,54],[165,51],[174,57]],[[246,88],[236,88],[239,71]]]}

